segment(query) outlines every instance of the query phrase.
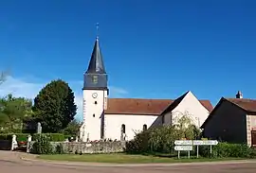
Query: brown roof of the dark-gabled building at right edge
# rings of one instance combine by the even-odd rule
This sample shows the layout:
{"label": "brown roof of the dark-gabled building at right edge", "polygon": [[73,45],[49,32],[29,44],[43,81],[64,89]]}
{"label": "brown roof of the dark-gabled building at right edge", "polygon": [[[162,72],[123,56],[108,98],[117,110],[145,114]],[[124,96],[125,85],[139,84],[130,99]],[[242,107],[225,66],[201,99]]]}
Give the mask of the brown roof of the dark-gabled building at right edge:
{"label": "brown roof of the dark-gabled building at right edge", "polygon": [[244,110],[245,112],[255,114],[256,113],[256,100],[255,99],[247,99],[247,98],[225,98],[222,97],[215,108],[210,112],[208,118],[201,126],[202,129],[205,128],[206,124],[210,121],[213,113],[219,108],[219,106],[223,103],[223,101],[229,101],[233,105],[237,106],[238,108]]}

